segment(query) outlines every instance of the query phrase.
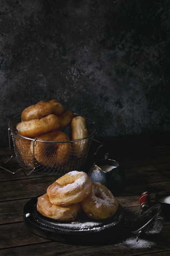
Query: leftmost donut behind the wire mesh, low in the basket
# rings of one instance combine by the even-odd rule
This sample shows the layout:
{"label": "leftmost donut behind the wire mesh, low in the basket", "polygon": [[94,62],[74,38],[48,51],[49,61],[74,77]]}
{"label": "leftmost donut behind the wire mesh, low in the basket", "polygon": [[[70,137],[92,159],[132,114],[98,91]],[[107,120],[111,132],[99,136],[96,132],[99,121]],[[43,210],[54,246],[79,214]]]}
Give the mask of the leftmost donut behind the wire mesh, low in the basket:
{"label": "leftmost donut behind the wire mesh, low in the basket", "polygon": [[16,146],[15,154],[19,154],[18,159],[21,158],[27,168],[34,168],[33,154],[30,150],[31,140],[20,136],[17,131],[13,132],[13,140]]}

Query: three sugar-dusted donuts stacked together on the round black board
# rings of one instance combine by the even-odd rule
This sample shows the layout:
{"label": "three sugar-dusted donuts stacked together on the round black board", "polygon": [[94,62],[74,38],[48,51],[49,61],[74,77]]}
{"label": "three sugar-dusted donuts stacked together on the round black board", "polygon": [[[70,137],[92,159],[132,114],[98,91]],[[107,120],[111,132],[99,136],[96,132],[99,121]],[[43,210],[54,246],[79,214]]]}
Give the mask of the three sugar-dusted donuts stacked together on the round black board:
{"label": "three sugar-dusted donuts stacked together on the round black board", "polygon": [[118,202],[100,182],[92,182],[83,171],[70,171],[51,184],[38,197],[37,210],[58,221],[74,221],[82,210],[95,220],[112,217]]}

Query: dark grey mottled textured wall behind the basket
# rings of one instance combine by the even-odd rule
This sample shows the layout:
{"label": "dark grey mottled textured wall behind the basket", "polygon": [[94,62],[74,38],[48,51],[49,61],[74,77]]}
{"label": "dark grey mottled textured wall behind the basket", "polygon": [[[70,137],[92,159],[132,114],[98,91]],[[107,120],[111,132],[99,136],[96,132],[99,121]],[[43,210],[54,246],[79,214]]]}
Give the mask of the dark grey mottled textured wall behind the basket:
{"label": "dark grey mottled textured wall behind the basket", "polygon": [[41,99],[98,137],[169,131],[170,1],[0,0],[0,130]]}

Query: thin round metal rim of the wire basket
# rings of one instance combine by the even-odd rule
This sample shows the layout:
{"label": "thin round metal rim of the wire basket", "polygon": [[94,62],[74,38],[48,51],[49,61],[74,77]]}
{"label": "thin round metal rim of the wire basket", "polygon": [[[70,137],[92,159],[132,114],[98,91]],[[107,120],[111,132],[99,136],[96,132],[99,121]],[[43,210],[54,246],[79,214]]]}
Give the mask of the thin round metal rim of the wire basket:
{"label": "thin round metal rim of the wire basket", "polygon": [[[79,116],[79,114],[76,114],[76,113],[74,113],[76,116]],[[88,135],[88,136],[86,136],[86,137],[84,137],[84,138],[82,138],[82,139],[75,139],[75,140],[68,140],[68,141],[45,141],[45,140],[38,140],[38,139],[32,139],[32,138],[29,138],[29,137],[25,137],[25,136],[22,136],[22,135],[20,135],[20,134],[18,134],[17,132],[15,132],[11,127],[10,127],[10,123],[11,123],[11,121],[13,120],[13,119],[15,119],[15,118],[17,118],[17,117],[20,117],[21,115],[20,114],[18,114],[18,115],[15,115],[14,117],[12,117],[10,120],[9,120],[9,122],[8,122],[8,130],[10,130],[11,132],[13,132],[15,135],[17,135],[17,136],[19,136],[19,137],[22,137],[22,138],[24,138],[24,139],[29,139],[29,140],[31,140],[31,141],[38,141],[38,142],[47,142],[47,143],[71,143],[71,142],[76,142],[76,141],[81,141],[81,140],[84,140],[84,139],[88,139],[88,138],[90,138],[90,137],[92,137],[94,134],[95,134],[95,132],[96,132],[96,130],[97,130],[97,128],[96,128],[96,123],[95,122],[93,122],[91,119],[89,119],[88,117],[85,117],[88,121],[90,121],[93,125],[94,125],[94,131],[90,134],[90,135]]]}

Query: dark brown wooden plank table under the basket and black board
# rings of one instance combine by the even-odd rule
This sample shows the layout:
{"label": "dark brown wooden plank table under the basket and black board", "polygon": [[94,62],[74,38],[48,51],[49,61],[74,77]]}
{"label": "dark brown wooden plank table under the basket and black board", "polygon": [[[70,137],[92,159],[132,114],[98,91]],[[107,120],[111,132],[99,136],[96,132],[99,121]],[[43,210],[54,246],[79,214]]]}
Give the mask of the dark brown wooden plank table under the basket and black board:
{"label": "dark brown wooden plank table under the basket and black board", "polygon": [[[116,196],[124,209],[127,225],[141,216],[139,197],[150,192],[151,202],[159,191],[170,188],[170,133],[99,139],[104,143],[94,159],[109,153],[126,173],[126,187]],[[1,159],[9,148],[0,149]],[[15,157],[0,166],[16,171]],[[0,168],[0,255],[157,255],[170,253],[170,222],[164,220],[161,233],[139,238],[131,233],[108,245],[74,245],[42,238],[29,231],[23,222],[23,207],[31,198],[43,194],[57,177],[22,171],[12,174]]]}

